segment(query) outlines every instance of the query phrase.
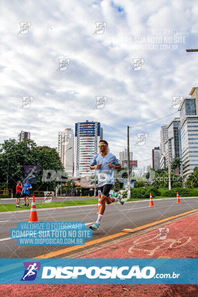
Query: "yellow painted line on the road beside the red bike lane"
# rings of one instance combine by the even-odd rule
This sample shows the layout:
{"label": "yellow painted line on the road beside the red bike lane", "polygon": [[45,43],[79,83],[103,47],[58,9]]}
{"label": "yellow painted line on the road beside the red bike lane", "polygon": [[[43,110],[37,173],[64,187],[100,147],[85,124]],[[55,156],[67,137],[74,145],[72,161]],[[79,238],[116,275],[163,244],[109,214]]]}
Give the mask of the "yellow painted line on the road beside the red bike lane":
{"label": "yellow painted line on the road beside the red bike lane", "polygon": [[[195,211],[198,211],[198,208],[194,209],[194,210],[187,211],[187,212],[183,212],[183,213],[180,213],[180,214],[177,214],[177,215],[174,215],[174,216],[169,217],[169,218],[162,219],[160,221],[155,221],[155,222],[152,222],[152,223],[149,223],[149,224],[134,228],[133,230],[138,231],[138,230],[141,230],[141,229],[144,229],[144,228],[147,228],[147,227],[150,227],[150,226],[153,226],[153,225],[156,225],[156,224],[159,224],[159,223],[162,223],[162,222],[165,222],[165,221],[168,221],[168,220],[171,220],[171,219],[174,219],[174,218],[177,218],[177,217],[180,217],[180,216],[195,212]],[[84,246],[66,247],[66,248],[63,248],[63,249],[59,249],[59,250],[52,251],[52,252],[49,252],[47,254],[35,257],[34,259],[39,259],[39,258],[46,259],[46,258],[56,257],[58,255],[66,253],[66,252],[70,252],[70,251],[80,249],[80,248],[84,248],[84,247],[89,247],[89,246],[92,246],[92,245],[95,245],[95,244],[98,244],[98,243],[101,243],[101,242],[104,242],[104,241],[107,241],[107,240],[110,240],[110,239],[113,239],[113,238],[116,238],[116,237],[119,237],[119,236],[123,236],[123,235],[126,235],[126,233],[125,232],[116,233],[116,234],[113,234],[113,235],[109,235],[109,236],[106,236],[106,237],[102,237],[102,238],[90,241],[90,242],[86,243]]]}

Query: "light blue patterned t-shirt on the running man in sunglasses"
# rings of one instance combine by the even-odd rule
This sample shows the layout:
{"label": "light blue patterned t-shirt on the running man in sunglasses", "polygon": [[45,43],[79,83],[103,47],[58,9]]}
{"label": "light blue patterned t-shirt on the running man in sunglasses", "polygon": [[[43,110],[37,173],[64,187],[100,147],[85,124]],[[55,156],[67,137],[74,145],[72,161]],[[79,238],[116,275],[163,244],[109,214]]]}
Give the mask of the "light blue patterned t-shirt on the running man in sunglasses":
{"label": "light blue patterned t-shirt on the running man in sunglasses", "polygon": [[110,152],[108,152],[104,157],[102,157],[100,153],[97,153],[91,161],[91,165],[101,164],[100,168],[97,169],[99,187],[102,187],[107,184],[114,184],[113,168],[108,168],[109,162],[111,162],[112,165],[119,164],[116,156]]}

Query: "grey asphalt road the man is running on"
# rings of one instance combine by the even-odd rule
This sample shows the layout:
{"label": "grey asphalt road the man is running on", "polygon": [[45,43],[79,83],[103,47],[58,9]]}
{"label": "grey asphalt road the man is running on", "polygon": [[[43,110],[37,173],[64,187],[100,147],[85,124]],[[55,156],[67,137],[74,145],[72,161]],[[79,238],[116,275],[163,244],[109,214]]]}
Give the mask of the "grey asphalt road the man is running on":
{"label": "grey asphalt road the man is running on", "polygon": [[[99,231],[93,231],[93,239],[121,232],[124,228],[135,228],[170,216],[198,208],[198,198],[153,200],[154,207],[148,207],[149,201],[126,202],[124,205],[112,203],[106,205]],[[97,219],[96,206],[65,208],[38,211],[40,222],[85,222],[87,227]],[[17,246],[15,239],[9,240],[10,228],[16,228],[17,222],[28,222],[29,212],[0,214],[0,257],[30,258],[63,249],[69,246]],[[7,240],[8,239],[8,240]],[[89,240],[86,240],[88,242]],[[59,257],[62,257],[59,256]]]}

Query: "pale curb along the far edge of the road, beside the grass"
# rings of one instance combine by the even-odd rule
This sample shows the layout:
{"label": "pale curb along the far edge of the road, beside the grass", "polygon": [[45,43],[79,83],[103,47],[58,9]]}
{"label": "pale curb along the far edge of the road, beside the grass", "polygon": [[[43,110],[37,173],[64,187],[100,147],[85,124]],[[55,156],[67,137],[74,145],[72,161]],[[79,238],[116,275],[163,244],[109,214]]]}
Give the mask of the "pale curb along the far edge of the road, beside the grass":
{"label": "pale curb along the far edge of the road, beside the grass", "polygon": [[[189,198],[198,198],[198,197],[182,197],[181,199],[189,199]],[[156,201],[158,200],[173,200],[176,198],[161,198],[161,199],[154,199]],[[149,201],[149,199],[145,200],[136,200],[136,201],[126,201],[125,203],[137,203],[137,202],[144,202],[144,201]],[[60,201],[61,202],[61,201]],[[96,204],[85,204],[85,205],[74,205],[74,206],[59,206],[59,207],[46,207],[46,208],[37,208],[37,211],[42,211],[42,210],[52,210],[52,209],[64,209],[64,208],[80,208],[80,207],[91,207],[91,206],[97,206],[98,203]],[[1,211],[1,214],[6,214],[6,213],[24,213],[24,212],[30,212],[30,209],[25,209],[25,210],[11,210],[11,211]]]}

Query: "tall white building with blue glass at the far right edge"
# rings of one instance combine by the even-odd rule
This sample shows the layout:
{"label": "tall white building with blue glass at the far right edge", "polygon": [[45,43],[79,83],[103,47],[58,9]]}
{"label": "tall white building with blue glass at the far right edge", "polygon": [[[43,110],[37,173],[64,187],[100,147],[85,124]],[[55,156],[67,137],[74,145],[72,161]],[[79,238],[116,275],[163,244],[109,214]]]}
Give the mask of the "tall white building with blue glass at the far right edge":
{"label": "tall white building with blue glass at the far right edge", "polygon": [[183,177],[186,179],[198,166],[198,88],[193,88],[191,97],[184,97],[180,104]]}

